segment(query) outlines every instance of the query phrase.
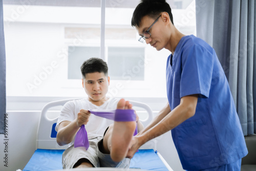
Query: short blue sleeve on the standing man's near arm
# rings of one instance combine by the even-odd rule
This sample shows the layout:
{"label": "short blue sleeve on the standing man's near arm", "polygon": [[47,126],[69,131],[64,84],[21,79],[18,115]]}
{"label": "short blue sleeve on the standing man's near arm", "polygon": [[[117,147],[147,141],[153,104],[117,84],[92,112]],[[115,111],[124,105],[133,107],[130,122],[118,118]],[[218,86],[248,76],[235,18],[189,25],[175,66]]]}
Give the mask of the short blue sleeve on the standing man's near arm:
{"label": "short blue sleeve on the standing man's near arm", "polygon": [[199,94],[208,98],[214,68],[214,50],[210,51],[201,44],[183,50],[181,58],[180,97]]}

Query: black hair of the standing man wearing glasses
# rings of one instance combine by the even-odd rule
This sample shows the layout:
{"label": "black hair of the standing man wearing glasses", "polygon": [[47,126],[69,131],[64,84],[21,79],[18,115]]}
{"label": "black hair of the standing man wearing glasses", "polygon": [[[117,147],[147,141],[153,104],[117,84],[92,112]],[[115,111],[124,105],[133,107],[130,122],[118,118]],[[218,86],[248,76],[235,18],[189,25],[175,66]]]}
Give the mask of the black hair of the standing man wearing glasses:
{"label": "black hair of the standing man wearing glasses", "polygon": [[141,19],[144,16],[148,15],[156,19],[161,12],[167,12],[169,14],[170,21],[174,24],[172,10],[165,0],[141,0],[133,12],[132,26],[140,27]]}

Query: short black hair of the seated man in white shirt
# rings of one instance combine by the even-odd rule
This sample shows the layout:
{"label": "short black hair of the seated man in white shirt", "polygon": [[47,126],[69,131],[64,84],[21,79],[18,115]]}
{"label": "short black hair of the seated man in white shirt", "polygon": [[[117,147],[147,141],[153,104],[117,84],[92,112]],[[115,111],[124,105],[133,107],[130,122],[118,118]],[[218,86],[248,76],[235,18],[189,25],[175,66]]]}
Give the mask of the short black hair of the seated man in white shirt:
{"label": "short black hair of the seated man in white shirt", "polygon": [[108,70],[106,62],[96,57],[84,61],[81,65],[82,78],[86,78],[86,74],[94,72],[104,73],[105,76],[108,76]]}

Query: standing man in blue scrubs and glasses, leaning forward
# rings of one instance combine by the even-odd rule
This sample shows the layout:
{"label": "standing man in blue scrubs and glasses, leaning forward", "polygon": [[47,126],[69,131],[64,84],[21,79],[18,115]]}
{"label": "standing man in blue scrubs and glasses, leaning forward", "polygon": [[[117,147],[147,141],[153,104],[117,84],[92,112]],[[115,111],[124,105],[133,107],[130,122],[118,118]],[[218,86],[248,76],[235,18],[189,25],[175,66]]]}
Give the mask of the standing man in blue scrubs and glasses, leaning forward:
{"label": "standing man in blue scrubs and glasses, leaning forward", "polygon": [[157,136],[172,130],[186,170],[240,170],[247,155],[241,124],[228,81],[215,50],[173,24],[165,0],[142,0],[132,26],[139,41],[172,54],[166,63],[167,105],[133,139],[129,156]]}

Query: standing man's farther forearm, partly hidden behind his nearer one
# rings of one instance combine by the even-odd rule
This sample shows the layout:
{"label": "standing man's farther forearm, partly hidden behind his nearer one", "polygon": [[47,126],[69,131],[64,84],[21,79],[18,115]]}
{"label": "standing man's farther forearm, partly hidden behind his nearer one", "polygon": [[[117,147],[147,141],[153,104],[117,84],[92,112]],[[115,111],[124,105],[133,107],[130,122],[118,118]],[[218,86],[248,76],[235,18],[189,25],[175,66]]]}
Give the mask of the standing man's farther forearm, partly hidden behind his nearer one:
{"label": "standing man's farther forearm, partly hidden behind his nearer one", "polygon": [[166,115],[170,113],[169,103],[167,103],[164,108],[158,113],[158,115],[148,124],[139,134],[146,132],[160,122]]}

